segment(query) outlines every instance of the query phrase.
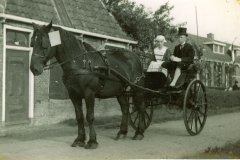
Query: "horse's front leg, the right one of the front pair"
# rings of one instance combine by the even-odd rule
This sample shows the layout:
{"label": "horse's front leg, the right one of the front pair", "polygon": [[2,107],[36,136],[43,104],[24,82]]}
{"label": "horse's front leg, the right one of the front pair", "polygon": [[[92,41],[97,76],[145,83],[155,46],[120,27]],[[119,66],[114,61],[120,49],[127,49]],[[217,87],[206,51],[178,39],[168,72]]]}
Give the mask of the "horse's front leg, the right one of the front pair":
{"label": "horse's front leg, the right one of the front pair", "polygon": [[87,107],[87,115],[86,119],[89,125],[89,141],[85,146],[86,149],[96,149],[98,146],[97,143],[97,135],[93,126],[94,121],[94,104],[95,104],[95,96],[92,91],[89,91],[85,95],[85,102]]}

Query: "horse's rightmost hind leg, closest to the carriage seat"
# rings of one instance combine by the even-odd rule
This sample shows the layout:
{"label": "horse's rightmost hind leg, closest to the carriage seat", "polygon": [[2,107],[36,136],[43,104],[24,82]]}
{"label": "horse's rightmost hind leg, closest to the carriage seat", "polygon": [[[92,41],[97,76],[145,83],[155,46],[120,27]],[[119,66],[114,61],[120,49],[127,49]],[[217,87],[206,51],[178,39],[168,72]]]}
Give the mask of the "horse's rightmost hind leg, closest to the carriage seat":
{"label": "horse's rightmost hind leg, closest to the carriage seat", "polygon": [[139,123],[138,128],[135,132],[133,140],[141,140],[143,139],[144,135],[144,119],[145,119],[145,101],[144,101],[144,94],[138,92],[135,94],[134,97],[134,104],[138,108],[139,111]]}

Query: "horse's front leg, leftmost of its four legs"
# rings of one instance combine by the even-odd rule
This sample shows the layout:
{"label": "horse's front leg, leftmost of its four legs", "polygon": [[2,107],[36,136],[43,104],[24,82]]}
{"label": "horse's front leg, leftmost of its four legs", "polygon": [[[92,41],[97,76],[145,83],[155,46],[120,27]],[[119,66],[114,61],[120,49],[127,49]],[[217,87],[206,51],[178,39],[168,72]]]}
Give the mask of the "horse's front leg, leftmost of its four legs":
{"label": "horse's front leg, leftmost of its four legs", "polygon": [[82,98],[77,97],[77,94],[69,92],[69,97],[75,107],[76,119],[78,123],[78,137],[74,140],[72,147],[84,147],[86,134],[84,128],[84,115],[82,111]]}

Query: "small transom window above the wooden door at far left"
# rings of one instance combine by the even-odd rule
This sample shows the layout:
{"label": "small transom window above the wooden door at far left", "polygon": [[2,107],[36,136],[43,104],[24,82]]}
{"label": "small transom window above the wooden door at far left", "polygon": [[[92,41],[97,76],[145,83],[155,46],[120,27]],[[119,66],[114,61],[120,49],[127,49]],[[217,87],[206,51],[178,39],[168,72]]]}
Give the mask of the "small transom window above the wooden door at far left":
{"label": "small transom window above the wooden door at far left", "polygon": [[29,47],[30,33],[7,29],[6,44],[11,46]]}

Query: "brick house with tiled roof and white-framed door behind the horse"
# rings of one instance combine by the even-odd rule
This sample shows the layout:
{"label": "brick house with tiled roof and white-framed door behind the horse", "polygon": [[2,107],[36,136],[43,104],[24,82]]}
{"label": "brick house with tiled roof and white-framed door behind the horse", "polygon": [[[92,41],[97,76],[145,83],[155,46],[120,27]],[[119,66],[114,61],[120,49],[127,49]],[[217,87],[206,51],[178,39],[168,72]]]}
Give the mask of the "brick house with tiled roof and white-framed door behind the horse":
{"label": "brick house with tiled roof and white-framed door behind the horse", "polygon": [[[106,48],[131,50],[137,43],[126,36],[101,0],[1,0],[0,128],[75,118],[60,67],[37,77],[29,70],[32,23],[45,25],[50,21],[95,48],[105,44]],[[113,100],[97,101],[96,115],[107,114],[107,107],[116,104]],[[120,113],[120,108],[116,112]]]}

